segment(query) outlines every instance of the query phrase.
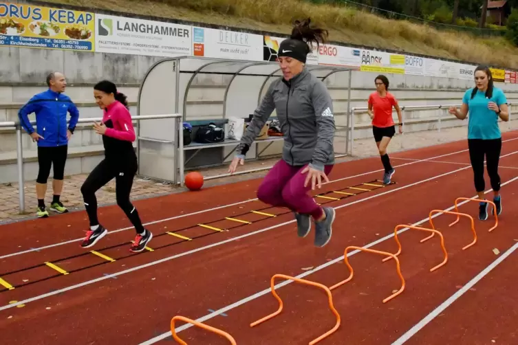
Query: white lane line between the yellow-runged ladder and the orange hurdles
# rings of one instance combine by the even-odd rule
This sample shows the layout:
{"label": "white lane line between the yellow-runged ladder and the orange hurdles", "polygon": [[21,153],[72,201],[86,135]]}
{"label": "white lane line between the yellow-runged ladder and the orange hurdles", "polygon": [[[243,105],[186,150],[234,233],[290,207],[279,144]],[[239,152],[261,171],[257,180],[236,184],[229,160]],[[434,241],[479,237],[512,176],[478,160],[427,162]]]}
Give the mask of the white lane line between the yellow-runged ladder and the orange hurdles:
{"label": "white lane line between the yellow-runged ladder and the orange hurdles", "polygon": [[[518,153],[518,151],[515,151],[514,153],[509,153],[508,155],[512,155],[512,154],[515,154],[515,153]],[[440,177],[451,175],[451,174],[454,174],[455,172],[460,172],[462,170],[466,170],[467,168],[470,168],[470,167],[466,166],[464,168],[460,168],[460,169],[453,170],[453,171],[450,171],[450,172],[445,172],[445,173],[443,173],[441,175],[437,175],[437,176],[434,176],[434,177],[429,177],[428,179],[424,179],[422,181],[414,182],[414,183],[408,184],[406,186],[401,186],[399,188],[395,188],[395,189],[392,189],[392,190],[387,190],[387,192],[382,192],[382,193],[379,193],[379,194],[371,195],[370,197],[366,197],[366,198],[363,198],[363,199],[358,199],[356,201],[352,201],[350,203],[346,203],[344,205],[337,206],[334,209],[338,210],[340,208],[345,208],[345,207],[350,206],[350,205],[355,205],[356,203],[361,203],[363,201],[367,201],[367,200],[370,200],[370,199],[382,197],[385,194],[390,194],[390,193],[393,193],[393,192],[397,192],[398,190],[403,190],[403,189],[410,188],[412,186],[416,186],[418,184],[421,184],[421,183],[424,183],[424,182],[427,182],[427,181],[431,181],[433,179],[438,179]],[[505,183],[502,183],[501,186],[504,186],[504,184]],[[461,205],[461,204],[459,204],[459,205]],[[88,280],[86,282],[80,282],[79,284],[76,284],[76,285],[72,285],[72,286],[69,286],[69,287],[64,287],[63,289],[51,291],[49,293],[44,293],[43,295],[34,296],[32,298],[28,298],[26,300],[22,300],[22,301],[19,301],[19,302],[16,302],[16,303],[7,304],[7,305],[4,305],[3,307],[0,307],[0,311],[6,310],[6,309],[10,309],[10,308],[14,308],[14,307],[16,307],[19,304],[27,304],[28,302],[34,302],[35,300],[41,300],[43,298],[54,296],[54,295],[57,295],[58,293],[63,293],[65,291],[70,291],[70,290],[78,289],[79,287],[84,287],[84,286],[87,286],[87,285],[91,285],[91,284],[94,284],[95,282],[100,282],[102,280],[114,278],[114,277],[117,277],[117,276],[122,276],[122,274],[131,273],[133,271],[137,271],[138,269],[143,269],[143,268],[151,267],[151,266],[154,266],[154,265],[158,265],[160,263],[165,263],[166,261],[173,260],[175,258],[180,258],[180,257],[186,256],[188,254],[193,254],[193,253],[201,252],[201,251],[203,251],[205,249],[210,249],[210,248],[213,248],[213,247],[217,247],[219,245],[224,245],[225,243],[230,243],[230,242],[233,242],[233,241],[237,241],[237,240],[239,240],[241,238],[246,238],[248,236],[252,236],[252,235],[255,235],[255,234],[260,234],[261,232],[266,232],[268,230],[272,230],[272,229],[275,229],[277,227],[281,227],[283,225],[294,223],[295,221],[296,221],[295,219],[293,219],[291,221],[285,221],[284,223],[272,225],[270,227],[266,227],[264,229],[257,230],[255,232],[249,232],[248,234],[243,234],[241,236],[228,238],[228,239],[226,239],[224,241],[220,241],[220,242],[217,242],[217,243],[212,243],[211,245],[206,245],[204,247],[199,247],[199,248],[196,248],[196,249],[192,249],[192,250],[190,250],[188,252],[183,252],[183,253],[180,253],[180,254],[175,254],[173,256],[162,258],[160,260],[151,261],[151,263],[147,263],[147,264],[144,264],[144,265],[132,267],[130,269],[125,269],[124,271],[119,271],[119,272],[114,273],[114,274],[108,274],[108,275],[105,275],[105,276],[102,276],[102,277],[99,277],[99,278],[96,278],[96,279]]]}

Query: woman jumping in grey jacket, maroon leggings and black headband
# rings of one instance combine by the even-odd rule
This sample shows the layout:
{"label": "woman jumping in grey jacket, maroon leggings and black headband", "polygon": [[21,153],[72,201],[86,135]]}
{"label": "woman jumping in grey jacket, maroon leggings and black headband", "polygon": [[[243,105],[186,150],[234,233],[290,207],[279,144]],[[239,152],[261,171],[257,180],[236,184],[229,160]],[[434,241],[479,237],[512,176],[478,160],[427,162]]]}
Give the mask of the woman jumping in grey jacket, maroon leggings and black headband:
{"label": "woman jumping in grey jacket, maroon leggings and black headband", "polygon": [[277,53],[283,77],[268,88],[228,169],[233,173],[238,164],[244,164],[248,148],[276,110],[284,137],[283,155],[259,186],[257,198],[292,210],[301,237],[309,234],[312,217],[314,245],[318,247],[330,241],[335,212],[317,205],[307,192],[316,185],[321,188],[322,180],[329,182],[327,175],[334,164],[335,124],[327,88],[304,66],[311,52],[307,42],[318,46],[326,36],[326,30],[310,27],[310,19],[296,21],[291,37],[282,41]]}

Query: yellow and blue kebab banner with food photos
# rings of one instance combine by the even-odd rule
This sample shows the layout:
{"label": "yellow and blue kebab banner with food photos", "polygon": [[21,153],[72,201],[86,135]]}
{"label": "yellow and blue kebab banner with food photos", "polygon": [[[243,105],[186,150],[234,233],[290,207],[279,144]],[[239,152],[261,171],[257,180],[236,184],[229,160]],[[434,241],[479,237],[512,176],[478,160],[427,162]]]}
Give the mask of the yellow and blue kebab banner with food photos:
{"label": "yellow and blue kebab banner with food photos", "polygon": [[94,52],[93,13],[0,3],[0,45]]}

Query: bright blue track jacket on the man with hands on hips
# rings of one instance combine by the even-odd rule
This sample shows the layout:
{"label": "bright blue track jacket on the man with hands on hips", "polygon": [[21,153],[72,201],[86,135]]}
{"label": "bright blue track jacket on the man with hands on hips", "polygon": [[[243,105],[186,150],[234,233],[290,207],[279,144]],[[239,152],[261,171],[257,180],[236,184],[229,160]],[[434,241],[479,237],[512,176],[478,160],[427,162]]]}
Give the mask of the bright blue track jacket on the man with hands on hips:
{"label": "bright blue track jacket on the man with hands on hips", "polygon": [[[79,111],[72,100],[51,89],[33,96],[18,112],[20,124],[29,134],[34,132],[30,113],[36,113],[36,131],[43,137],[37,141],[38,146],[67,145],[67,129],[73,133],[79,119]],[[67,113],[70,113],[68,126]]]}

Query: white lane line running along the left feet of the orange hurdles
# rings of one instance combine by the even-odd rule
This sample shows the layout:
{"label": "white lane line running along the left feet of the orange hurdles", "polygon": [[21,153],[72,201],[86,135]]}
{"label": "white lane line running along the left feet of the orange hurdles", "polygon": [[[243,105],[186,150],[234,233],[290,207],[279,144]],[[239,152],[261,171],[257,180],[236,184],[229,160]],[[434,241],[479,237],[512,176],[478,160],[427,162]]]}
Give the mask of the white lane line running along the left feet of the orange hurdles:
{"label": "white lane line running along the left feet of the orange hurdles", "polygon": [[[462,168],[462,169],[464,169],[464,168]],[[505,186],[508,183],[516,181],[517,179],[518,179],[518,177],[514,177],[514,178],[510,179],[509,181],[501,183],[501,186]],[[484,192],[484,194],[488,194],[489,192],[492,192],[492,191],[493,191],[492,189],[488,189],[488,190],[486,190]],[[473,198],[476,198],[476,197],[477,197],[477,195],[474,195],[471,198],[473,199]],[[457,206],[464,205],[464,203],[468,203],[468,202],[470,202],[470,201],[468,201],[468,200],[462,201],[460,203],[457,203]],[[455,205],[453,205],[453,206],[451,206],[449,208],[446,208],[446,210],[444,210],[444,211],[451,211],[453,209],[455,209]],[[440,214],[443,214],[443,213],[433,214],[433,216],[431,216],[431,218],[435,218],[437,216],[440,216]],[[429,217],[424,218],[424,219],[418,221],[417,223],[413,223],[412,225],[413,226],[418,226],[418,225],[421,225],[422,223],[425,223],[427,221],[429,221]],[[408,227],[404,227],[403,229],[398,231],[398,234],[401,234],[402,232],[406,232],[407,230],[409,230],[409,228]],[[377,245],[379,243],[387,241],[390,238],[393,238],[393,236],[394,236],[394,234],[392,232],[391,234],[389,234],[389,235],[387,235],[385,237],[382,237],[382,238],[378,239],[377,241],[371,242],[371,243],[363,246],[363,248],[373,247],[374,245]],[[359,252],[360,252],[359,250],[355,250],[353,252],[349,252],[347,254],[347,258],[349,258],[349,256],[353,256],[354,254],[358,254]],[[325,269],[326,267],[329,267],[330,265],[334,265],[335,263],[341,262],[341,260],[343,260],[343,259],[344,259],[344,256],[340,256],[339,258],[335,258],[334,260],[331,260],[331,261],[329,261],[329,262],[327,262],[327,263],[325,263],[323,265],[317,266],[317,267],[315,267],[314,269],[312,269],[310,271],[305,271],[304,273],[299,274],[298,276],[295,276],[295,278],[299,278],[299,279],[304,278],[305,276],[309,276],[310,274],[313,274],[316,271],[320,271],[321,269]],[[279,289],[281,287],[284,287],[285,285],[291,284],[292,282],[293,282],[292,280],[285,280],[283,282],[280,282],[277,285],[274,285],[274,289]],[[232,309],[235,309],[235,308],[237,308],[237,307],[239,307],[239,306],[241,306],[243,304],[246,304],[246,303],[248,303],[248,302],[250,302],[252,300],[255,300],[255,299],[257,299],[257,298],[259,298],[261,296],[264,296],[267,293],[271,293],[270,291],[271,291],[270,288],[264,289],[263,291],[259,291],[259,292],[255,293],[255,294],[251,295],[251,296],[248,296],[247,298],[243,298],[242,300],[234,302],[233,304],[229,304],[228,306],[223,307],[221,309],[218,309],[217,311],[213,311],[213,313],[204,315],[204,316],[202,316],[202,318],[198,318],[195,321],[197,321],[197,322],[204,322],[206,320],[210,320],[212,318],[215,318],[218,315],[221,315],[222,313],[226,313],[226,312],[228,312],[228,311],[230,311]],[[171,318],[172,318],[172,316],[171,316]],[[182,325],[180,327],[177,327],[175,329],[175,332],[178,333],[178,332],[184,331],[185,329],[191,328],[191,326],[192,326],[192,324],[184,324],[184,325]],[[160,340],[164,340],[166,337],[170,337],[170,336],[171,336],[171,331],[166,332],[166,333],[162,333],[161,335],[153,337],[150,340],[147,340],[146,342],[140,343],[139,345],[151,345],[151,344],[154,344],[155,342],[160,342]]]}

